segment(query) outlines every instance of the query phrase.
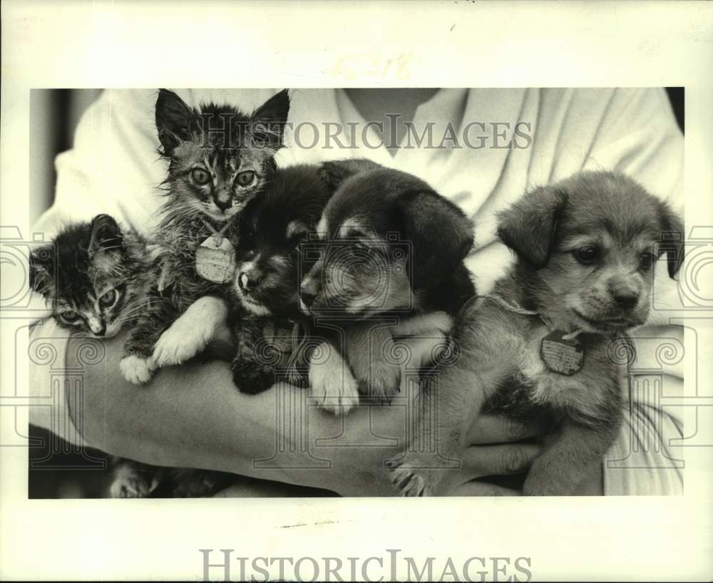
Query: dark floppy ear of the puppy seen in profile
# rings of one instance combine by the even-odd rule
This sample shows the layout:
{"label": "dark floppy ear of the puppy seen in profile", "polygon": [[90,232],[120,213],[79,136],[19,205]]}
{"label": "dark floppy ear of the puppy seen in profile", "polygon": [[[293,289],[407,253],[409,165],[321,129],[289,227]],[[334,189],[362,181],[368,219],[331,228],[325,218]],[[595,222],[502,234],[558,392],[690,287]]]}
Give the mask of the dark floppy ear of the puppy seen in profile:
{"label": "dark floppy ear of the puppy seen in profile", "polygon": [[473,222],[433,190],[416,193],[403,212],[401,237],[411,244],[414,288],[453,274],[473,247]]}

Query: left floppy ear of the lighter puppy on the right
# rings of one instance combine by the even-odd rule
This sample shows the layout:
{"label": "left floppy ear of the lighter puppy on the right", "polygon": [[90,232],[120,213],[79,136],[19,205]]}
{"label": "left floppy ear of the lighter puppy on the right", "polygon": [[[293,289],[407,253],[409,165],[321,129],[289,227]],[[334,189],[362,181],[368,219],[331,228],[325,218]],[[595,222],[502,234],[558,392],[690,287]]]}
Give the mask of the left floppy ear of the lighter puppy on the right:
{"label": "left floppy ear of the lighter puppy on the right", "polygon": [[550,259],[555,229],[567,205],[567,192],[539,187],[525,194],[499,215],[498,237],[510,249],[539,269]]}

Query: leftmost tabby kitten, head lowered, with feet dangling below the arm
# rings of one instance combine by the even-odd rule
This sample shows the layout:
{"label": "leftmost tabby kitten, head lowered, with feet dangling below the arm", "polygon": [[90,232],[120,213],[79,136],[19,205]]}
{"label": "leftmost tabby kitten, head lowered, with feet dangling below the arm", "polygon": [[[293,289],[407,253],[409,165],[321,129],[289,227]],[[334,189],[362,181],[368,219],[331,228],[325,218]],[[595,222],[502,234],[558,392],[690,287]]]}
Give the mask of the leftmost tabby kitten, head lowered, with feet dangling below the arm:
{"label": "leftmost tabby kitten, head lowered, with feet dangling below the arm", "polygon": [[[168,300],[151,296],[158,267],[150,246],[121,230],[109,215],[63,229],[30,257],[30,287],[42,294],[58,324],[95,338],[116,336],[122,326]],[[157,468],[114,457],[111,497],[200,496],[227,486],[229,474],[190,468]]]}

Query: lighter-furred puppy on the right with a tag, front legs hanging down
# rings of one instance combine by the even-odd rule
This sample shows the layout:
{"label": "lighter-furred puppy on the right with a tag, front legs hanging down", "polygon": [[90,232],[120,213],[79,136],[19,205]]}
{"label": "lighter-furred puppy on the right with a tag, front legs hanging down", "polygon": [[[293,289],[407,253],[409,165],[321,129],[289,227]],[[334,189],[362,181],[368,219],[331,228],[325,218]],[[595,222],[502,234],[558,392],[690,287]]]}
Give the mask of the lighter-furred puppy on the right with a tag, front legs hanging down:
{"label": "lighter-furred puppy on the right with a tag, front legs hanging down", "polygon": [[[456,322],[459,357],[432,386],[437,423],[424,416],[413,447],[387,463],[404,495],[438,494],[483,407],[546,428],[526,495],[573,493],[619,431],[626,371],[617,342],[647,319],[653,265],[666,253],[674,277],[683,260],[679,218],[612,172],[530,192],[502,213],[498,234],[515,265]],[[437,451],[421,453],[427,443]]]}

